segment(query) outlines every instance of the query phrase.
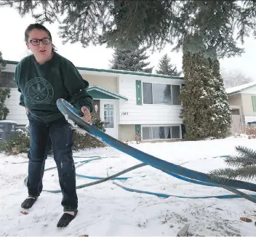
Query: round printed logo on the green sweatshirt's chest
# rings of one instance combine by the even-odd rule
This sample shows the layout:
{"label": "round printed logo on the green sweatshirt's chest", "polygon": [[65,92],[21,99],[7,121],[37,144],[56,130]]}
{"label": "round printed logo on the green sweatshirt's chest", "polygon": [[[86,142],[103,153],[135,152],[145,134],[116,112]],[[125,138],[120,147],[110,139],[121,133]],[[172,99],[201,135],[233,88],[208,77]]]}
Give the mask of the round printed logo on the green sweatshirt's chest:
{"label": "round printed logo on the green sweatshirt's chest", "polygon": [[31,104],[49,103],[53,97],[53,88],[49,81],[36,77],[25,84],[25,97]]}

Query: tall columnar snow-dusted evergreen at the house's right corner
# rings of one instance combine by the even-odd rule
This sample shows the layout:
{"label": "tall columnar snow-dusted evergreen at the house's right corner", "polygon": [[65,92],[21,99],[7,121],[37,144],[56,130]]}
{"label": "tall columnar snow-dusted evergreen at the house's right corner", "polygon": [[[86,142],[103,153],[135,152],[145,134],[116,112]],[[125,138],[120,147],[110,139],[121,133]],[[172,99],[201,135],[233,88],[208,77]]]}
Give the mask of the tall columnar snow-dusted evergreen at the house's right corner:
{"label": "tall columnar snow-dusted evergreen at the house's right corner", "polygon": [[219,63],[207,52],[198,35],[184,42],[183,72],[185,87],[180,93],[183,102],[180,117],[185,125],[185,139],[226,137],[231,126],[231,112]]}

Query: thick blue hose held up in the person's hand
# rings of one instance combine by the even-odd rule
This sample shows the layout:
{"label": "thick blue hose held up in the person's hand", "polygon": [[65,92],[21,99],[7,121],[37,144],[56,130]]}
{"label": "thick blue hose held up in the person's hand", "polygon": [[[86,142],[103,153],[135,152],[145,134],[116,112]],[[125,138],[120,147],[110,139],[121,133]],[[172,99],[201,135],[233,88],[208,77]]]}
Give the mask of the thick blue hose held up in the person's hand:
{"label": "thick blue hose held up in the person's hand", "polygon": [[60,112],[63,113],[65,118],[71,119],[73,123],[75,123],[82,129],[85,129],[87,132],[92,134],[92,136],[94,136],[97,140],[103,141],[108,145],[111,145],[113,148],[116,148],[117,150],[121,150],[121,152],[123,153],[127,153],[128,155],[133,156],[134,158],[137,158],[138,160],[142,161],[145,164],[149,164],[155,167],[156,169],[160,169],[161,171],[166,173],[171,172],[174,174],[180,174],[184,177],[191,178],[192,180],[199,180],[201,182],[208,182],[208,183],[214,184],[217,187],[225,188],[226,190],[229,190],[232,193],[236,193],[237,195],[243,196],[244,198],[247,198],[247,200],[256,203],[256,198],[254,198],[253,196],[249,196],[246,193],[242,193],[239,190],[231,188],[231,187],[235,187],[235,188],[256,191],[256,185],[254,183],[244,182],[240,180],[231,180],[231,179],[225,179],[228,181],[220,182],[220,181],[214,180],[208,174],[204,174],[202,172],[196,172],[194,170],[187,169],[183,166],[178,166],[176,164],[172,164],[167,161],[161,160],[160,158],[151,156],[147,153],[144,153],[141,150],[132,148],[131,146],[126,145],[123,142],[120,142],[119,140],[114,139],[108,134],[105,134],[104,132],[97,129],[95,126],[92,126],[91,124],[85,122],[83,119],[81,119],[82,114],[79,111],[77,111],[76,108],[74,108],[66,100],[58,99],[57,107],[60,110]]}

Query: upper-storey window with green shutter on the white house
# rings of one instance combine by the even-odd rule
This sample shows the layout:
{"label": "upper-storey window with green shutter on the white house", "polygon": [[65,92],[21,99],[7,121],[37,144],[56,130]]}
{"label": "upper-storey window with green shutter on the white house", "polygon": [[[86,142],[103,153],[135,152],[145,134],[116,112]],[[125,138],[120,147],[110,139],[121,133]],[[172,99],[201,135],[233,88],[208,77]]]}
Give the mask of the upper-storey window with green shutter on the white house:
{"label": "upper-storey window with green shutter on the white house", "polygon": [[180,105],[180,85],[143,82],[143,103]]}

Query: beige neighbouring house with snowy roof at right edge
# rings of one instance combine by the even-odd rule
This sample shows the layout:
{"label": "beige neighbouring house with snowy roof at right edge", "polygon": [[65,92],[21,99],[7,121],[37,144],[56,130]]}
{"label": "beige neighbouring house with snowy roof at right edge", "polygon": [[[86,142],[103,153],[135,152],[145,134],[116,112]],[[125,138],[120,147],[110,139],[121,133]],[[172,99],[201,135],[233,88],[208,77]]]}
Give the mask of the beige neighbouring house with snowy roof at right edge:
{"label": "beige neighbouring house with snowy roof at right edge", "polygon": [[244,126],[256,123],[256,81],[226,89],[233,116],[233,132],[244,132]]}

